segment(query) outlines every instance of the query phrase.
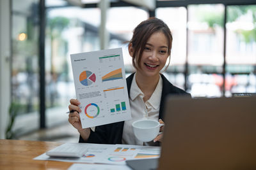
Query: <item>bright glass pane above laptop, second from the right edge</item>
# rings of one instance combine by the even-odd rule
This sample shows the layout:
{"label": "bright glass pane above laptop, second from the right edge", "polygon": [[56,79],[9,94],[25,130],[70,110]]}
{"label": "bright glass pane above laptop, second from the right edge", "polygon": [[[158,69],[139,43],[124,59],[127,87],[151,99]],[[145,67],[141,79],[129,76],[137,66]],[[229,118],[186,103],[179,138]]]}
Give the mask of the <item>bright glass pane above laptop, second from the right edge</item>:
{"label": "bright glass pane above laptop, second from the right edge", "polygon": [[188,89],[192,96],[221,96],[224,9],[223,4],[188,6]]}

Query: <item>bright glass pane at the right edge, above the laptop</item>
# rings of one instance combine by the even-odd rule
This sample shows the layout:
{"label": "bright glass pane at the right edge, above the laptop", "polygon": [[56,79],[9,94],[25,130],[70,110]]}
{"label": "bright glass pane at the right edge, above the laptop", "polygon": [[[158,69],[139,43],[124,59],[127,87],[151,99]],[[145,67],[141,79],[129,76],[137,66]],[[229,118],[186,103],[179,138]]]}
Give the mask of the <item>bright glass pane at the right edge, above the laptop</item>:
{"label": "bright glass pane at the right edge, above the laptop", "polygon": [[226,96],[256,92],[256,5],[227,7]]}

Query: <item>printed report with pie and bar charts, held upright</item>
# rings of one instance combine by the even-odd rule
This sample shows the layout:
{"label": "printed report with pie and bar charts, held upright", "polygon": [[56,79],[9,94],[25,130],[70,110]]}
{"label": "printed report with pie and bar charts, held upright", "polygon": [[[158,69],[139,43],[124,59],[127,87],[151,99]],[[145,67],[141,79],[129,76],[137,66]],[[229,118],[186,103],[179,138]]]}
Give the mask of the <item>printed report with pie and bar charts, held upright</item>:
{"label": "printed report with pie and bar charts, held upright", "polygon": [[131,119],[122,48],[71,54],[83,128]]}

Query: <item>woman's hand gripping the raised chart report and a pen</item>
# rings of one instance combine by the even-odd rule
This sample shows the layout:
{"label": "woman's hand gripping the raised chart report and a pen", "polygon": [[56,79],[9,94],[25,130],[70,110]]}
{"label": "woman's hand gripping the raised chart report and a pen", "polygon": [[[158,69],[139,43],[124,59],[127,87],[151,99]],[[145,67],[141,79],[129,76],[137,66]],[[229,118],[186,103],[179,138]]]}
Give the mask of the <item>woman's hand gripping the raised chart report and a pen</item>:
{"label": "woman's hand gripping the raised chart report and a pen", "polygon": [[82,124],[81,124],[81,120],[80,120],[80,115],[79,112],[81,112],[81,109],[78,107],[78,105],[80,104],[80,102],[77,99],[70,99],[70,104],[68,106],[68,109],[74,110],[74,112],[69,113],[68,115],[68,122],[70,124],[72,124],[77,131],[82,131]]}

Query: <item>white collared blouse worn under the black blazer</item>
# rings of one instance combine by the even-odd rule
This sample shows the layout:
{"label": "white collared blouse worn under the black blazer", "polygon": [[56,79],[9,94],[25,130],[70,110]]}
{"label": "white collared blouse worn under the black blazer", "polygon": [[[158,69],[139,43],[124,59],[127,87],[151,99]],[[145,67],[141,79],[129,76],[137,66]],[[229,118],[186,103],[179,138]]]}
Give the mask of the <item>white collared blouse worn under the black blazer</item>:
{"label": "white collared blouse worn under the black blazer", "polygon": [[124,130],[122,136],[122,144],[127,145],[150,145],[154,146],[156,143],[153,141],[150,142],[142,142],[139,141],[132,131],[132,123],[136,120],[140,120],[143,118],[154,119],[158,121],[159,117],[159,108],[160,101],[163,89],[163,80],[159,75],[159,81],[157,83],[156,89],[154,90],[152,96],[148,101],[144,102],[143,97],[144,94],[141,92],[140,88],[136,83],[136,73],[133,76],[131,89],[130,89],[130,97],[129,102],[131,106],[131,120],[126,120],[124,122]]}

